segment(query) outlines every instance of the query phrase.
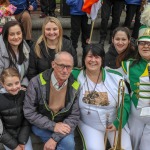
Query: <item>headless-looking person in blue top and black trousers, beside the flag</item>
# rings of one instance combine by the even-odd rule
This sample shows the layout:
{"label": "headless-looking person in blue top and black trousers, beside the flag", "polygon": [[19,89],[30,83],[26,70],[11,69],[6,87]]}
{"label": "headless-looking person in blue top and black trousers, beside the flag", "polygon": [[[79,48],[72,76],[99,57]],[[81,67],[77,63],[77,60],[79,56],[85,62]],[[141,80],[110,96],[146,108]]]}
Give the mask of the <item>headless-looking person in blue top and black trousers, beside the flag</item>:
{"label": "headless-looking person in blue top and black trousers, beside the flag", "polygon": [[71,40],[73,47],[75,50],[77,49],[81,31],[82,54],[84,55],[85,46],[90,38],[91,24],[88,23],[87,14],[82,11],[83,0],[66,0],[66,3],[70,6]]}

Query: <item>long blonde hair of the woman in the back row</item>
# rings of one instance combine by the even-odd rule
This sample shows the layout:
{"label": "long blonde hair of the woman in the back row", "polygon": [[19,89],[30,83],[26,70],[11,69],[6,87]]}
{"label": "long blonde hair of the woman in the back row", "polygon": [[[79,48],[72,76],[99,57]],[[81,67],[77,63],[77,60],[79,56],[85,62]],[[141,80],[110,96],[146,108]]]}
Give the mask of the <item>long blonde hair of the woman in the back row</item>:
{"label": "long blonde hair of the woman in the back row", "polygon": [[56,49],[55,49],[56,53],[60,52],[61,48],[62,48],[63,29],[62,29],[62,25],[61,25],[60,21],[57,18],[55,18],[55,17],[46,17],[44,22],[43,22],[43,25],[42,25],[42,35],[39,37],[39,39],[37,40],[37,42],[35,44],[35,53],[36,53],[37,57],[39,57],[39,58],[42,57],[41,56],[41,49],[40,49],[40,46],[39,46],[39,44],[42,41],[44,41],[44,44],[45,44],[45,47],[46,47],[46,51],[47,51],[47,54],[48,54],[47,39],[45,37],[45,26],[49,22],[55,23],[56,26],[59,29],[59,39],[58,39],[58,44],[56,45]]}

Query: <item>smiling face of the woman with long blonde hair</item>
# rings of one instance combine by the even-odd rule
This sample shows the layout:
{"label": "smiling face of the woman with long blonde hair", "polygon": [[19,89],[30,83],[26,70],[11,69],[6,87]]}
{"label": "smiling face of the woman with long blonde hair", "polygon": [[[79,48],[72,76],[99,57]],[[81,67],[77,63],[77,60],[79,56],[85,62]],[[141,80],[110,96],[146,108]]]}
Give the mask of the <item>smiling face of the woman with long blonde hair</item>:
{"label": "smiling face of the woman with long blonde hair", "polygon": [[54,22],[48,22],[45,25],[45,37],[50,41],[58,40],[59,28]]}

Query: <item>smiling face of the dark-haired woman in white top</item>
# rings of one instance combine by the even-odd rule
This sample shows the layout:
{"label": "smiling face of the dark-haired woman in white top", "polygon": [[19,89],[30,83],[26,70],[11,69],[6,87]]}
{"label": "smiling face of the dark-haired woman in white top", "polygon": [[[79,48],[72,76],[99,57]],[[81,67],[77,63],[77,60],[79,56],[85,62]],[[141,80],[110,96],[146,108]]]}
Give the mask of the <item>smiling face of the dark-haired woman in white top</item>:
{"label": "smiling face of the dark-haired woman in white top", "polygon": [[99,71],[102,66],[102,58],[100,56],[94,56],[91,51],[85,57],[86,70]]}

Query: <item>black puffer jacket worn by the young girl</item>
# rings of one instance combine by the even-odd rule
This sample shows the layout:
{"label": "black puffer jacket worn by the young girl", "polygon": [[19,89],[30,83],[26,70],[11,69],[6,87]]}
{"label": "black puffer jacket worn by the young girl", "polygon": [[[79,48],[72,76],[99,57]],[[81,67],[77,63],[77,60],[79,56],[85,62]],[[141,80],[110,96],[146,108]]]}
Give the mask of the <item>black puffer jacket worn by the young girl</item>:
{"label": "black puffer jacket worn by the young girl", "polygon": [[0,117],[4,127],[0,142],[10,149],[25,145],[29,138],[30,127],[23,114],[24,97],[24,91],[17,95],[0,94]]}

